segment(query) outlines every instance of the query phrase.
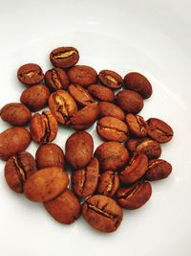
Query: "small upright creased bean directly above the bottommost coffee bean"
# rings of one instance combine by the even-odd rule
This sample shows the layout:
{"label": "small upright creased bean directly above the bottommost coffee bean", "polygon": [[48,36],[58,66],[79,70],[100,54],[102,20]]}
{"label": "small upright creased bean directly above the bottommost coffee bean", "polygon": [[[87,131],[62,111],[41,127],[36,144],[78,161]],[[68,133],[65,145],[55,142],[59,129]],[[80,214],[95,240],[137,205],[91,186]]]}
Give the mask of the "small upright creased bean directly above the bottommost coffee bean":
{"label": "small upright creased bean directly above the bottommost coffee bean", "polygon": [[99,177],[96,193],[112,198],[116,194],[118,186],[119,177],[117,173],[106,171]]}

